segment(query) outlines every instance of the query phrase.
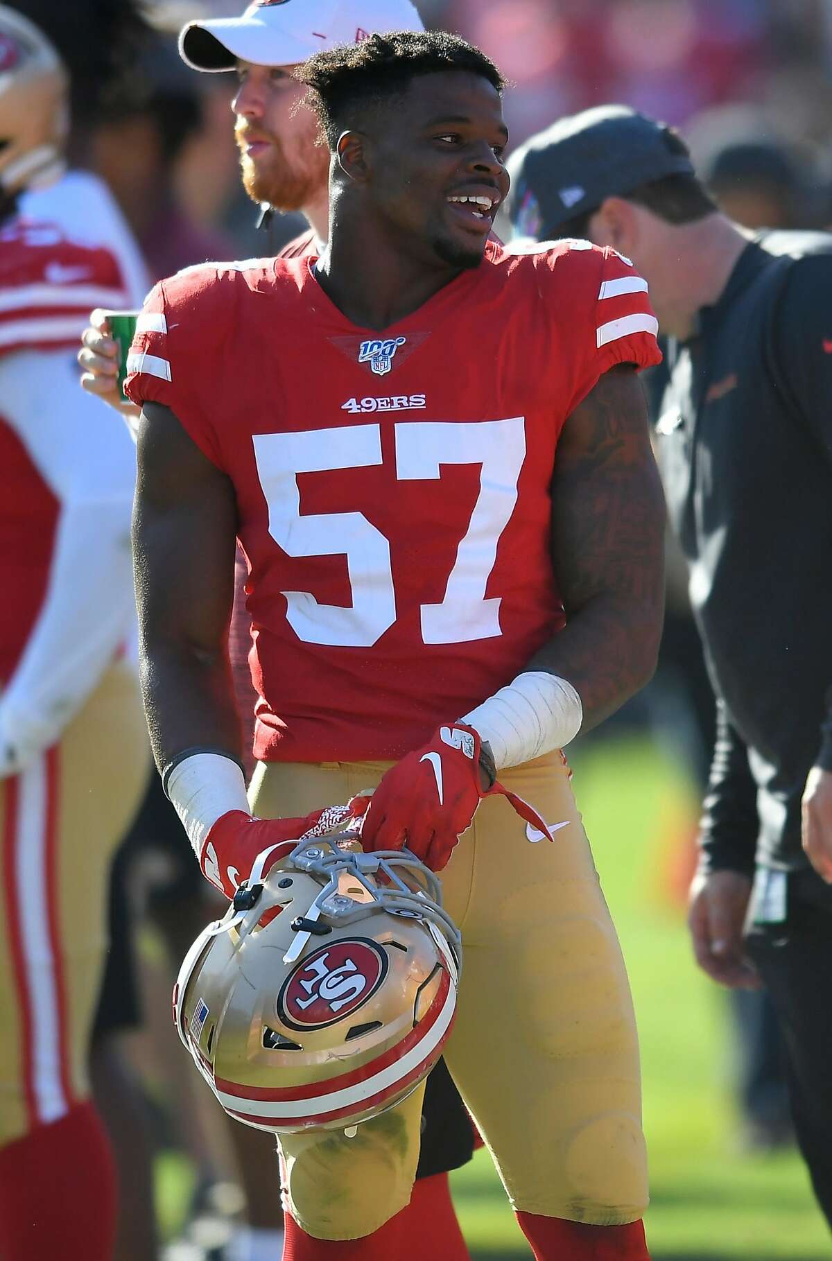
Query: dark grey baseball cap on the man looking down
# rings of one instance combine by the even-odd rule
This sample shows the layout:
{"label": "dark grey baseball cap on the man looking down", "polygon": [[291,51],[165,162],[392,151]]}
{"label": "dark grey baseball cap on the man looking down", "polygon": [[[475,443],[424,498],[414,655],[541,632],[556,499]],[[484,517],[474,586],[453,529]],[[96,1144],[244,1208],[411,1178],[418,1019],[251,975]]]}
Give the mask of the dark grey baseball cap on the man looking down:
{"label": "dark grey baseball cap on the man looking down", "polygon": [[625,105],[600,105],[558,119],[508,163],[514,236],[548,240],[560,226],[666,175],[693,175],[676,132]]}

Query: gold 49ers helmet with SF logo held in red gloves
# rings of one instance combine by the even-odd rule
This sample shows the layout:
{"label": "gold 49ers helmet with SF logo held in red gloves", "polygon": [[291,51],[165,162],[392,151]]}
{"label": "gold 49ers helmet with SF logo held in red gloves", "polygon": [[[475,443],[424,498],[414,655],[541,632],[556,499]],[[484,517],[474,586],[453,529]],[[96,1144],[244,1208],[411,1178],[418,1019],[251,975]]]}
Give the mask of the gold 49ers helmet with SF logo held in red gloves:
{"label": "gold 49ers helmet with SF logo held in red gloves", "polygon": [[174,1020],[238,1121],[349,1132],[439,1059],[460,961],[436,876],[339,830],[260,855],[185,956]]}

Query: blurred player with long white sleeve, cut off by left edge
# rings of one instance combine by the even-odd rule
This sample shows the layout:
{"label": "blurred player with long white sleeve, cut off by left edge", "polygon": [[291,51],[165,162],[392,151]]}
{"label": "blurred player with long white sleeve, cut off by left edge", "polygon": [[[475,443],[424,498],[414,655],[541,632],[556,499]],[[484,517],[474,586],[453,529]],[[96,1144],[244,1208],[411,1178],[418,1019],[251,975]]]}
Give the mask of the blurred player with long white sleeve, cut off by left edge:
{"label": "blurred player with long white sleeve, cut off by left edge", "polygon": [[[73,380],[90,303],[130,301],[91,224],[40,213],[68,79],[0,5],[0,1255],[107,1261],[116,1190],[90,1100],[112,852],[149,760],[135,671],[130,440]],[[40,200],[43,198],[43,202]],[[52,202],[55,206],[55,202]],[[102,232],[102,237],[106,233]]]}

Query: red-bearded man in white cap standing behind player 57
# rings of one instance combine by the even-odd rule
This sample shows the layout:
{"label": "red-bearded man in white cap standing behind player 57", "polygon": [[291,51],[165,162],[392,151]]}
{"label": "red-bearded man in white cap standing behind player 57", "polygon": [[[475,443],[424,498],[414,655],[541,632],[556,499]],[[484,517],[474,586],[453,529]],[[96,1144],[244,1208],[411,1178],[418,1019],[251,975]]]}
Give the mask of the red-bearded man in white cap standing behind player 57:
{"label": "red-bearded man in white cap standing behind player 57", "polygon": [[[309,231],[285,246],[281,257],[320,253],[329,232],[329,151],[318,144],[314,113],[300,108],[305,90],[292,74],[294,64],[321,45],[324,33],[325,45],[335,47],[354,42],[359,33],[392,28],[424,29],[410,0],[344,0],[334,10],[320,3],[308,3],[298,11],[252,6],[242,18],[193,21],[182,32],[180,50],[189,66],[207,73],[237,73],[240,87],[232,110],[250,197],[274,209],[303,211],[309,219]],[[116,388],[116,346],[102,314],[95,313],[93,319],[78,356],[84,368],[82,385],[132,425],[139,409],[124,404]],[[245,583],[246,564],[238,555],[231,662],[240,714],[243,723],[247,715],[251,723],[256,694],[248,670],[251,617]],[[247,757],[245,762],[250,769]],[[233,1129],[247,1160],[247,1153],[258,1151],[260,1144],[237,1124]],[[470,1158],[473,1142],[468,1113],[442,1063],[434,1069],[425,1093],[417,1188],[406,1227],[415,1251],[431,1255],[441,1247],[442,1261],[468,1255],[454,1216],[448,1170]],[[247,1237],[251,1261],[275,1248],[274,1232],[262,1224],[251,1228]]]}

